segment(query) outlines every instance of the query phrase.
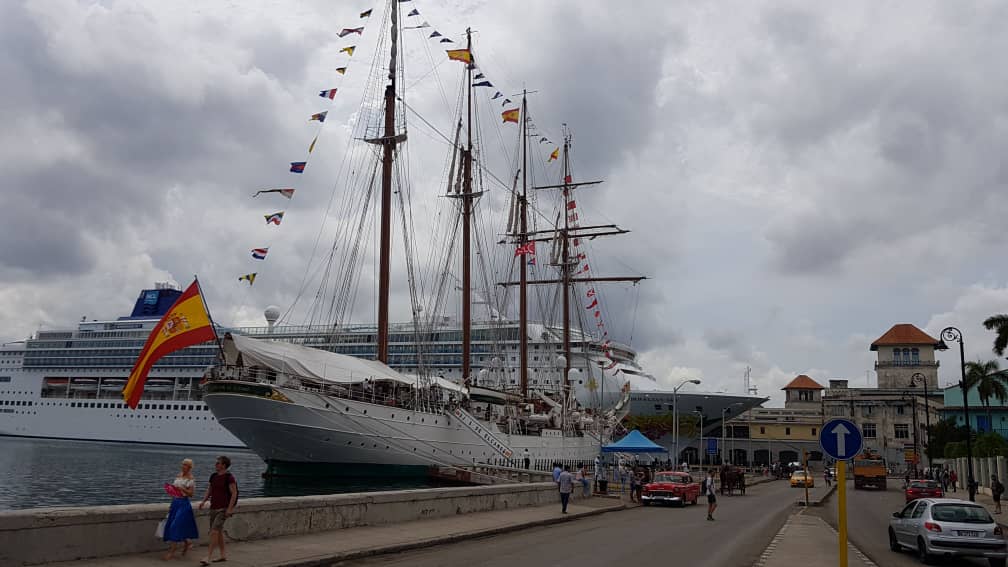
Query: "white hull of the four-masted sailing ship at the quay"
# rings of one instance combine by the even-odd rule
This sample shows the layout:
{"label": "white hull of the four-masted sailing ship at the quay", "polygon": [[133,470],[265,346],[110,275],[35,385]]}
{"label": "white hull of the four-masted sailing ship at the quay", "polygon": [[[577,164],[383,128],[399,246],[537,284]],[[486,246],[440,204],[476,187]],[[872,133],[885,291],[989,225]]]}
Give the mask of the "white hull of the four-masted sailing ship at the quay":
{"label": "white hull of the four-masted sailing ship at the quay", "polygon": [[[508,435],[461,412],[419,412],[275,387],[289,402],[233,392],[205,395],[222,426],[276,475],[421,475],[432,466],[491,463],[533,468],[572,466],[599,455],[597,436]],[[475,423],[474,423],[475,422]],[[469,425],[467,425],[467,423]]]}

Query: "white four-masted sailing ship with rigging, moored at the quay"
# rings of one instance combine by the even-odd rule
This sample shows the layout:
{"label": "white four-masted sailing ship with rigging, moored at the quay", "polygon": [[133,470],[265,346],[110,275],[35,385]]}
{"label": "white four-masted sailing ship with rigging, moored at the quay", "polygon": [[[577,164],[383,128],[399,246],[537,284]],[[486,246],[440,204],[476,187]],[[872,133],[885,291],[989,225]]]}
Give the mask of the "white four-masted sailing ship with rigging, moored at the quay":
{"label": "white four-masted sailing ship with rigging, moored at the quay", "polygon": [[[410,49],[401,42],[410,26],[403,21],[398,0],[385,3],[378,22],[379,50],[372,60],[361,112],[351,126],[353,141],[346,153],[350,163],[343,169],[347,175],[335,183],[330,200],[340,204],[337,234],[330,257],[320,262],[325,272],[314,297],[321,299],[309,316],[325,318],[339,328],[351,311],[347,306],[359,295],[371,297],[373,293],[369,307],[377,313],[374,360],[228,333],[223,339],[222,363],[211,372],[204,399],[221,425],[267,463],[267,474],[398,476],[474,463],[521,466],[528,462],[533,468],[549,469],[554,462],[590,462],[629,411],[629,388],[621,386],[617,402],[607,407],[589,407],[578,400],[575,382],[583,381],[587,390],[594,391],[606,382],[600,380],[602,372],[614,371],[619,362],[614,360],[612,341],[603,339],[601,333],[585,341],[579,336],[587,333],[576,331],[586,328],[572,313],[572,304],[580,304],[583,297],[577,294],[603,280],[587,273],[585,255],[577,245],[626,231],[611,225],[572,224],[577,217],[568,211],[575,203],[574,190],[591,184],[573,182],[565,134],[559,183],[535,186],[528,147],[533,124],[524,92],[520,104],[507,108],[511,101],[505,99],[503,112],[494,112],[503,117],[503,123],[518,125],[518,150],[511,186],[497,188],[503,199],[487,195],[490,179],[502,184],[491,172],[494,153],[486,150],[478,136],[476,106],[485,103],[474,96],[474,90],[492,84],[477,64],[478,52],[467,30],[464,43],[446,49],[448,59],[462,64],[461,89],[450,131],[436,132],[448,141],[448,157],[444,161],[447,180],[434,187],[444,188],[436,197],[449,213],[436,216],[435,220],[444,222],[424,236],[436,238],[436,244],[421,262],[413,231],[417,219],[412,215],[420,205],[407,201],[419,193],[408,175],[413,165],[408,160],[410,131],[406,127],[410,112],[419,111],[407,106],[409,97],[403,88],[409,84],[404,59]],[[423,123],[436,130],[428,120]],[[357,144],[363,149],[358,150]],[[558,157],[557,147],[550,161]],[[354,172],[370,174],[362,177]],[[555,222],[543,220],[545,198],[534,195],[545,190],[558,195]],[[497,224],[500,219],[495,213],[505,210],[507,222]],[[495,233],[501,236],[494,237]],[[366,236],[373,241],[364,242]],[[400,253],[393,252],[394,241],[397,245],[401,241]],[[548,253],[543,253],[544,247],[550,248]],[[494,265],[495,258],[504,261]],[[364,264],[373,268],[365,271]],[[421,273],[424,268],[430,270],[429,279]],[[409,295],[412,320],[406,340],[430,343],[438,334],[437,314],[451,310],[449,303],[461,310],[461,359],[456,361],[458,370],[452,370],[459,372],[459,379],[428,364],[431,355],[423,349],[416,351],[417,372],[404,373],[392,366],[393,275]],[[374,288],[361,292],[371,287],[372,276]],[[361,285],[362,280],[368,286]],[[540,286],[552,290],[551,295],[537,296],[533,288]],[[483,302],[492,306],[491,311],[517,311],[512,335],[517,351],[490,354],[493,363],[482,369],[473,365],[473,355],[486,338],[473,314],[481,288]],[[559,330],[556,345],[538,354],[537,345],[530,341],[537,330],[530,314],[534,307],[540,315],[555,316]],[[582,307],[577,310],[583,311]],[[601,308],[595,317],[600,315]],[[501,328],[502,321],[494,326]],[[542,334],[548,336],[550,330]],[[605,360],[596,364],[586,343],[598,343]],[[533,363],[537,358],[552,366],[547,375],[554,377],[536,377]]]}

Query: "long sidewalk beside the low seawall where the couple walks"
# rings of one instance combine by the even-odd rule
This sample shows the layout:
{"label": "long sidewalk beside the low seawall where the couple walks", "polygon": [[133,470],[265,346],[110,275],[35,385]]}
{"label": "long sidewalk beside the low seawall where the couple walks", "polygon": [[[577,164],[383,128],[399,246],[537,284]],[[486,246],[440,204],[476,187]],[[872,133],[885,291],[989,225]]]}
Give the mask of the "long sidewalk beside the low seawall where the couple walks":
{"label": "long sidewalk beside the low seawall where the couple walks", "polygon": [[[386,526],[365,526],[306,536],[252,542],[228,542],[227,565],[232,567],[330,565],[349,559],[396,553],[558,522],[569,522],[623,508],[623,502],[618,499],[596,497],[587,501],[572,502],[568,507],[566,515],[560,514],[560,505],[557,502],[548,506],[467,514]],[[167,551],[167,546],[165,546],[165,551]],[[164,553],[160,552],[65,561],[47,563],[46,565],[67,567],[198,565],[201,559],[206,558],[206,554],[207,548],[200,546],[191,550],[183,559],[170,562],[163,561]]]}

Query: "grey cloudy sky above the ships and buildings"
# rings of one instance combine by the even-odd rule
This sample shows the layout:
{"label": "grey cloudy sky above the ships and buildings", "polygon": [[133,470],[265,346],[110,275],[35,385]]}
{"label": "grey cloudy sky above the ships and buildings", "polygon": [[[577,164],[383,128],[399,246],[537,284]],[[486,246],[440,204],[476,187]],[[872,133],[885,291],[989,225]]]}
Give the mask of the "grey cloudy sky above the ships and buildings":
{"label": "grey cloudy sky above the ships and buildings", "polygon": [[[968,357],[992,357],[981,322],[1008,312],[1008,5],[401,5],[450,37],[472,27],[495,86],[537,91],[551,139],[571,127],[579,178],[606,180],[579,209],[633,231],[596,265],[649,277],[607,291],[610,329],[663,383],[741,391],[751,366],[774,402],[799,373],[874,384],[869,344],[896,323],[956,325]],[[368,8],[384,9],[0,3],[0,340],[125,314],[141,289],[194,273],[225,324],[289,304],[361,114]],[[337,37],[357,25],[363,36]],[[405,34],[407,84],[447,131],[455,71],[428,31]],[[447,94],[424,90],[433,79]],[[330,105],[317,94],[333,86]],[[306,117],[325,108],[291,181],[318,131]],[[411,132],[411,152],[436,147]],[[250,199],[268,187],[299,193]],[[263,225],[271,208],[287,210],[281,227]],[[253,270],[256,286],[237,282]],[[958,368],[940,360],[943,384]]]}

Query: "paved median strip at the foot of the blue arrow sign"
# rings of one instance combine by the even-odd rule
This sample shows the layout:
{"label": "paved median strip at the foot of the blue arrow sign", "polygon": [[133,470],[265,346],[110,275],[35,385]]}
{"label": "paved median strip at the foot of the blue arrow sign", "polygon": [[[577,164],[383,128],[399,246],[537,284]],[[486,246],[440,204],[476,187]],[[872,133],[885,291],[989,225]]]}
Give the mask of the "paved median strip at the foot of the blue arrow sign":
{"label": "paved median strip at the foot of the blue arrow sign", "polygon": [[[823,520],[799,511],[787,519],[753,567],[835,567],[840,562],[837,532]],[[878,567],[847,544],[850,567]]]}

